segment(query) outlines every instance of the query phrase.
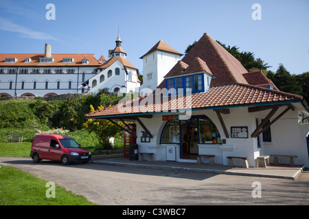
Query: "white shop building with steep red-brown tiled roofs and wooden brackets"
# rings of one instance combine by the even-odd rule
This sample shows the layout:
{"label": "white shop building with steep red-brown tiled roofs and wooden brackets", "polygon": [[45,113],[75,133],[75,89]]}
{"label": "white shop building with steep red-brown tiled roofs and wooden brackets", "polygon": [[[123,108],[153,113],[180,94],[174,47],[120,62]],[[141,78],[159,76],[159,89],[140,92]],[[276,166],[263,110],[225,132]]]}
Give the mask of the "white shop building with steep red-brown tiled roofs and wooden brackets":
{"label": "white shop building with steep red-brown tiled roofs and wooden brackets", "polygon": [[154,160],[196,162],[197,155],[214,155],[215,164],[227,165],[229,156],[247,157],[250,167],[261,155],[297,156],[295,164],[308,167],[309,125],[300,124],[308,116],[302,96],[279,91],[262,72],[248,73],[207,34],[152,94],[86,115],[122,121],[139,153],[153,153]]}

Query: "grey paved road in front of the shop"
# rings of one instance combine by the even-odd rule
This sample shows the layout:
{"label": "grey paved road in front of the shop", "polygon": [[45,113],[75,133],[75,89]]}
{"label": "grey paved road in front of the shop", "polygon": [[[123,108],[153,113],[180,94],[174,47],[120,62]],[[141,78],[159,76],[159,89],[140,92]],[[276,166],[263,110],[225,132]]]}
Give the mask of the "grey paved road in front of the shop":
{"label": "grey paved road in front of the shop", "polygon": [[[293,181],[98,164],[34,164],[16,157],[0,157],[0,165],[54,181],[100,205],[309,205],[309,172]],[[258,188],[254,182],[260,183],[261,193],[253,192]],[[252,192],[262,197],[253,198]]]}

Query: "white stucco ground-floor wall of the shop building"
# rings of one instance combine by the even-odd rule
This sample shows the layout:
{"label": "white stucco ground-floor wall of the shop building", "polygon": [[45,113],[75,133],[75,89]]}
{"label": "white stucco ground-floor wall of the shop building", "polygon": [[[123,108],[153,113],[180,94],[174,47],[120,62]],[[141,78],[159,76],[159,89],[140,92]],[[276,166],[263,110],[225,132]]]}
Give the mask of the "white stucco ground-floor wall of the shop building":
{"label": "white stucco ground-floor wall of the shop building", "polygon": [[[272,118],[275,118],[285,110],[285,108],[286,107],[280,107]],[[255,159],[260,155],[297,155],[298,157],[295,159],[295,164],[309,166],[308,149],[306,145],[306,134],[309,132],[309,125],[298,124],[298,110],[288,111],[271,126],[272,142],[263,142],[261,134],[261,147],[258,148],[257,138],[251,138],[251,133],[253,133],[256,128],[255,118],[265,118],[269,111],[270,110],[264,110],[262,112],[249,113],[248,107],[235,107],[230,109],[230,114],[221,114],[227,127],[229,138],[225,138],[225,133],[214,110],[192,112],[192,115],[205,114],[208,116],[218,128],[221,138],[226,139],[226,144],[198,144],[198,153],[216,155],[216,164],[223,165],[228,164],[227,156],[249,157],[248,163],[250,167],[255,166]],[[195,160],[180,159],[179,144],[160,144],[161,132],[166,123],[166,121],[162,120],[162,115],[163,114],[154,114],[152,118],[141,118],[142,122],[153,136],[149,143],[141,142],[141,131],[144,131],[144,129],[137,123],[137,144],[139,144],[139,152],[155,153],[155,160],[166,160],[166,146],[174,145],[176,146],[176,161],[196,162]],[[248,138],[231,138],[231,127],[240,126],[248,127]],[[208,162],[207,158],[205,158],[205,162]],[[279,160],[279,162],[288,164],[288,159]],[[242,166],[242,161],[236,159],[235,164],[237,166]]]}

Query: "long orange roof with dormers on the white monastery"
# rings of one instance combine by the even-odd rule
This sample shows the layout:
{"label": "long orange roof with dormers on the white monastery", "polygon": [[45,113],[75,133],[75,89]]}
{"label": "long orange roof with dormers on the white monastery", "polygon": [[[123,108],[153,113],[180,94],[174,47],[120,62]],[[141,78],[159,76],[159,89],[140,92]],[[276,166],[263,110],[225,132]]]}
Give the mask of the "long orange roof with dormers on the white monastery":
{"label": "long orange roof with dormers on the white monastery", "polygon": [[[44,57],[44,54],[14,54],[14,53],[1,53],[0,54],[0,66],[85,66],[82,64],[82,60],[87,56],[89,64],[87,66],[100,66],[100,62],[95,59],[94,54],[52,54],[54,62],[52,63],[42,63],[40,62],[40,57]],[[5,62],[5,57],[15,57],[17,62]],[[31,62],[25,62],[25,58],[30,57]],[[72,57],[73,62],[62,62],[64,57]]]}

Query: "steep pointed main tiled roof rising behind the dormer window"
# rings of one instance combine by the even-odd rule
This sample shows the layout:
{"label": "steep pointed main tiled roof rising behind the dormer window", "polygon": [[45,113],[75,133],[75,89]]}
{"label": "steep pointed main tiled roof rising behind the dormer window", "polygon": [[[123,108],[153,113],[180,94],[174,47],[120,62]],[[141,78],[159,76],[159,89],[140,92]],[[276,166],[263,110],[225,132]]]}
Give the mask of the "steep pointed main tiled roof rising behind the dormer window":
{"label": "steep pointed main tiled roof rising behind the dormer window", "polygon": [[196,42],[194,47],[190,49],[181,61],[190,66],[196,57],[206,62],[211,73],[214,75],[215,78],[211,80],[211,87],[248,83],[242,75],[248,72],[246,68],[207,34],[204,34]]}

